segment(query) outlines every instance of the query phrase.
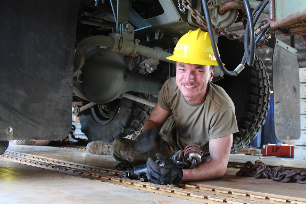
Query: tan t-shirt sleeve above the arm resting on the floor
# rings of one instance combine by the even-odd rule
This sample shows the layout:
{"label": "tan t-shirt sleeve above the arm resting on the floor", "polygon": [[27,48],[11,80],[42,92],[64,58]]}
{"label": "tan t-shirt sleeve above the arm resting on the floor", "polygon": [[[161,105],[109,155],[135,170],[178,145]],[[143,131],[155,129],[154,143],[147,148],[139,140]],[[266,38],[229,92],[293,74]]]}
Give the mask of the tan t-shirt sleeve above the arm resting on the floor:
{"label": "tan t-shirt sleeve above the arm resting on the floor", "polygon": [[235,109],[223,108],[216,112],[211,119],[209,139],[216,139],[238,132]]}

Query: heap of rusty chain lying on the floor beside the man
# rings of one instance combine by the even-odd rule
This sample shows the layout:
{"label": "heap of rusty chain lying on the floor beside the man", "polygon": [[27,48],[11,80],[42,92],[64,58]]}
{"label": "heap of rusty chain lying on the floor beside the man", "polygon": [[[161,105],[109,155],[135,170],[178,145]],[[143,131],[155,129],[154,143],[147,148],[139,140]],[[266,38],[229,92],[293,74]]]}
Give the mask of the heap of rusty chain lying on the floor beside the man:
{"label": "heap of rusty chain lying on the floor beside the man", "polygon": [[255,164],[251,161],[245,162],[244,166],[236,173],[236,176],[252,176],[256,179],[267,178],[284,183],[297,182],[306,184],[306,172],[298,169],[287,171],[283,165],[277,168],[269,167],[260,160],[255,161]]}

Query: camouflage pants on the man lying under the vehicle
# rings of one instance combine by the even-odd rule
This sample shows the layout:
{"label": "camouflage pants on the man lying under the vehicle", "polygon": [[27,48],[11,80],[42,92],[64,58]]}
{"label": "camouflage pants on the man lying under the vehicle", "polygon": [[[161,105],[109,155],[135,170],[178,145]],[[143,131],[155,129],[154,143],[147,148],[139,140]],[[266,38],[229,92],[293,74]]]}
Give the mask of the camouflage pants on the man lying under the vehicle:
{"label": "camouflage pants on the man lying under the vehicle", "polygon": [[146,162],[149,157],[156,159],[156,153],[171,157],[174,152],[178,150],[176,145],[176,129],[173,117],[170,117],[162,126],[160,132],[162,140],[164,141],[161,147],[157,147],[149,152],[140,153],[132,147],[137,140],[140,131],[126,137],[116,138],[110,148],[110,154],[117,162],[122,161],[140,161]]}

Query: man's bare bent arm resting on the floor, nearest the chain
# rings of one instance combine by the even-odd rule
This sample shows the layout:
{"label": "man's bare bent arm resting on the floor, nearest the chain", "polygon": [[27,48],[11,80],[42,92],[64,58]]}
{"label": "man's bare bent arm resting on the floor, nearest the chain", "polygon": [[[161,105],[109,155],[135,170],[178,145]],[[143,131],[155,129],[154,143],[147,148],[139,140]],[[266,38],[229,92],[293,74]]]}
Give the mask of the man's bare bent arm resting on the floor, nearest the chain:
{"label": "man's bare bent arm resting on the floor, nearest the chain", "polygon": [[233,134],[209,140],[211,160],[194,169],[183,169],[182,181],[211,180],[224,176],[232,143]]}

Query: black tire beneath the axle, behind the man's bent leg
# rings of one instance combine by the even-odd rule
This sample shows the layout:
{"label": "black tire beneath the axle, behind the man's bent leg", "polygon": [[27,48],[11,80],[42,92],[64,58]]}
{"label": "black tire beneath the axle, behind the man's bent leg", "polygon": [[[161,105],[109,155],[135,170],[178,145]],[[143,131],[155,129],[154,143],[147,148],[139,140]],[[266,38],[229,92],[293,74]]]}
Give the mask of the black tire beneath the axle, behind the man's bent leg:
{"label": "black tire beneath the axle, behind the man's bent leg", "polygon": [[150,111],[151,107],[127,98],[95,105],[87,114],[80,116],[81,131],[89,141],[102,140],[112,143],[117,137],[139,131]]}

